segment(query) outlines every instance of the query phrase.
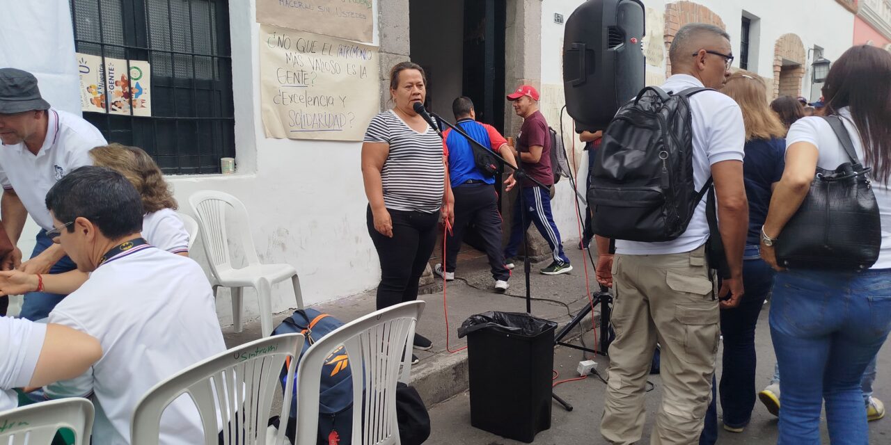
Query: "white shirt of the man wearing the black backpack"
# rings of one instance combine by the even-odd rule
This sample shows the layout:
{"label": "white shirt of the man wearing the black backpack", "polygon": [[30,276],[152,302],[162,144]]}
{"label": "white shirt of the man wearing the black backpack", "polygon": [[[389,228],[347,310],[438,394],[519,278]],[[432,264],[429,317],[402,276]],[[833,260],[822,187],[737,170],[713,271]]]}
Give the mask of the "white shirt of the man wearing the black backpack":
{"label": "white shirt of the man wearing the black backpack", "polygon": [[[696,77],[675,74],[668,77],[662,89],[666,93],[703,85]],[[693,131],[693,184],[701,190],[712,175],[711,166],[727,160],[743,158],[746,145],[746,127],[742,123],[742,111],[736,101],[716,91],[704,91],[690,97]],[[672,241],[643,243],[616,240],[616,253],[623,255],[680,254],[702,246],[708,239],[706,198],[699,201],[690,225],[680,237]]]}

